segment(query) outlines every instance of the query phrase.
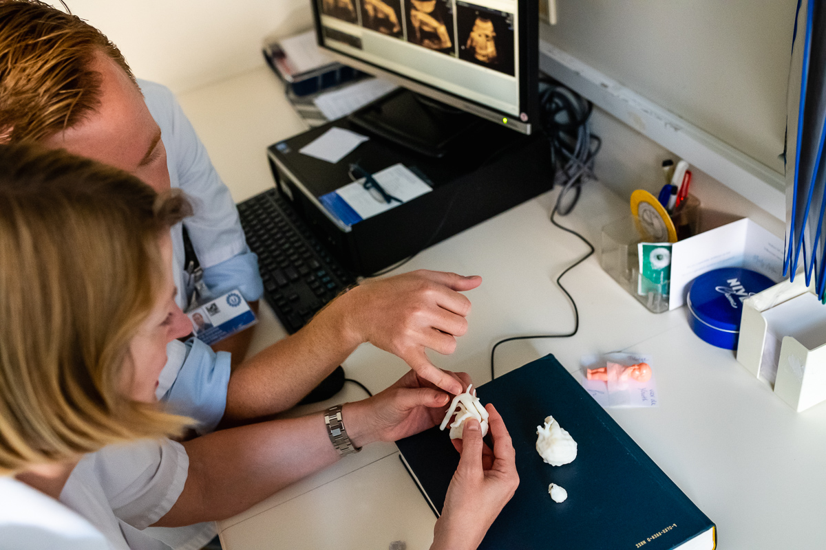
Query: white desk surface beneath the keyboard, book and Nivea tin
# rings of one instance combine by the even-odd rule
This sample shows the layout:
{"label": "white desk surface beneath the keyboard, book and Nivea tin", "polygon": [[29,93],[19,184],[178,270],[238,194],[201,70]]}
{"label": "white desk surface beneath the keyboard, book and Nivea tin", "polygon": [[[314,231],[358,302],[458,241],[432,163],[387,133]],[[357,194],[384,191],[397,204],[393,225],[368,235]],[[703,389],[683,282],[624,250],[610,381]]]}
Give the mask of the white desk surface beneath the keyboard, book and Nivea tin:
{"label": "white desk surface beneath the keyboard, book and Nivea tin", "polygon": [[[267,68],[180,97],[235,200],[273,186],[265,148],[305,126]],[[572,308],[554,280],[586,247],[548,222],[553,191],[423,251],[402,270],[482,275],[470,329],[453,355],[434,364],[490,379],[491,346],[507,336],[563,333]],[[599,231],[624,215],[624,200],[592,183],[561,221],[598,246]],[[563,279],[577,300],[579,334],[515,341],[496,352],[496,374],[553,353],[567,369],[582,355],[634,350],[653,355],[660,406],[610,410],[615,421],[717,524],[721,550],[826,548],[826,406],[797,414],[752,378],[733,352],[705,344],[685,308],[649,313],[601,270],[596,256]],[[253,351],[285,335],[262,304]],[[372,346],[344,362],[349,378],[374,393],[407,370]],[[363,392],[348,384],[320,410]],[[294,411],[297,414],[301,411]],[[397,457],[376,444],[220,522],[226,550],[259,548],[428,548],[434,515]],[[576,496],[572,496],[576,498]]]}

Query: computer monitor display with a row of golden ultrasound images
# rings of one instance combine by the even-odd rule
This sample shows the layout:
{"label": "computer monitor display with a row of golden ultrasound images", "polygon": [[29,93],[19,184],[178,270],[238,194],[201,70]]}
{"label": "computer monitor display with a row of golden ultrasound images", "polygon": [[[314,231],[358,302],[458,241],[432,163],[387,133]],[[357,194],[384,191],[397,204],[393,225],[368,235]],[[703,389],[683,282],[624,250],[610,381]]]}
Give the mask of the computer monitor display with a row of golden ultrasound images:
{"label": "computer monitor display with a row of golden ultrasound images", "polygon": [[335,59],[530,133],[536,0],[313,2],[319,44]]}

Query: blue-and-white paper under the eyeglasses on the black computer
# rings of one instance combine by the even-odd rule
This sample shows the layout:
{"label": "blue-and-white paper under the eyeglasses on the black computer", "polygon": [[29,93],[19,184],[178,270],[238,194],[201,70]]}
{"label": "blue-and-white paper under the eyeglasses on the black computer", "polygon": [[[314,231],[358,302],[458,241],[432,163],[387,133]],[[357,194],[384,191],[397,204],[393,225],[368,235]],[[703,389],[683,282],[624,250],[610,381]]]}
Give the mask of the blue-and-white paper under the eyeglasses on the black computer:
{"label": "blue-and-white paper under the eyeglasses on the black computer", "polygon": [[330,214],[340,219],[345,225],[352,226],[363,219],[372,218],[408,200],[425,195],[431,190],[425,181],[401,163],[376,172],[373,178],[382,186],[387,195],[392,195],[401,202],[392,200],[388,203],[376,190],[366,189],[363,185],[364,178],[332,193],[321,195],[318,200],[324,204]]}

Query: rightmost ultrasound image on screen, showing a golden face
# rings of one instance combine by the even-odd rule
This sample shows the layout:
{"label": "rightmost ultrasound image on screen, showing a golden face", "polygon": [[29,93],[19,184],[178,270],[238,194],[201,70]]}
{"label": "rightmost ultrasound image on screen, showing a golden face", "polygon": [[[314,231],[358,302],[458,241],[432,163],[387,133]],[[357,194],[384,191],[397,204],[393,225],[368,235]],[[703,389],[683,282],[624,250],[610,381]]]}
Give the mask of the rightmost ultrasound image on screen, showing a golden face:
{"label": "rightmost ultrasound image on screen, showing a golden face", "polygon": [[456,2],[459,59],[514,76],[514,16]]}

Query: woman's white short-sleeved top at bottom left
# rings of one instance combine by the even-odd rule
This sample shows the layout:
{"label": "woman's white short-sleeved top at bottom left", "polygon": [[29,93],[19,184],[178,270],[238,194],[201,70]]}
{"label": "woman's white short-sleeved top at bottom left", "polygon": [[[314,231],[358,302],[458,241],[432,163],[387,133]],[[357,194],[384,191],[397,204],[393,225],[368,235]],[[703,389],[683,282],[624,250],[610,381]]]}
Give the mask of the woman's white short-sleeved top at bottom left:
{"label": "woman's white short-sleeved top at bottom left", "polygon": [[[90,541],[97,540],[93,538],[97,535],[100,541],[89,543],[84,540],[77,548],[202,548],[216,534],[213,522],[175,529],[149,527],[166,515],[178,500],[187,481],[188,468],[189,458],[183,445],[171,440],[143,440],[110,445],[86,455],[60,493],[63,505],[13,479],[2,478],[0,550],[74,549],[60,538],[50,539],[59,540],[59,544],[44,545],[40,540],[62,536],[71,541],[75,532],[91,537]],[[7,491],[10,498],[7,498]],[[20,494],[25,494],[30,505],[14,504]],[[69,522],[69,519],[74,521]],[[64,529],[64,526],[67,527]],[[18,536],[17,544],[4,546],[7,532],[24,534],[26,530],[31,533],[12,535]]]}

